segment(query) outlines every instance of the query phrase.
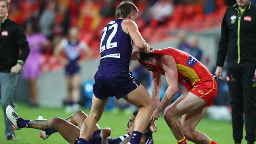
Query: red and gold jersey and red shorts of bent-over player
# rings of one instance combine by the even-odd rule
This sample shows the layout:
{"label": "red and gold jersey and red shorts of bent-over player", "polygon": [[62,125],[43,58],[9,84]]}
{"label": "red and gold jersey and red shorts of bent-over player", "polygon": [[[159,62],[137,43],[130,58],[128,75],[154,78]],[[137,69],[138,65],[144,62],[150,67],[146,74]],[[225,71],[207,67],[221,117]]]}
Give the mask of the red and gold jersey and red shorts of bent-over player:
{"label": "red and gold jersey and red shorts of bent-over player", "polygon": [[[174,58],[178,71],[178,82],[196,96],[204,99],[210,106],[217,94],[217,83],[208,68],[195,57],[177,50],[175,48],[165,48],[153,50],[152,54],[170,55]],[[145,61],[139,61],[148,70],[165,75],[165,71],[159,66]]]}

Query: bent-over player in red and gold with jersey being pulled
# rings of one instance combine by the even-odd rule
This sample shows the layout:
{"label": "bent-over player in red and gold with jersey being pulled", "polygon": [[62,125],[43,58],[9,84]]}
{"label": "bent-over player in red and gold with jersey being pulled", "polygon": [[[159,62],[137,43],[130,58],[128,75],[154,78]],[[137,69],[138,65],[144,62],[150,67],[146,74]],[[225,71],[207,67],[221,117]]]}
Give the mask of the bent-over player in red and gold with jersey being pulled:
{"label": "bent-over player in red and gold with jersey being pulled", "polygon": [[[178,92],[178,83],[181,83],[187,92],[167,107],[163,114],[178,144],[186,144],[186,139],[196,144],[217,144],[195,130],[217,94],[217,83],[206,66],[186,52],[174,48],[138,53],[137,56],[141,65],[152,71],[151,98],[156,108],[152,120],[159,118]],[[161,74],[165,75],[169,86],[160,102]],[[181,122],[179,116],[182,116]]]}

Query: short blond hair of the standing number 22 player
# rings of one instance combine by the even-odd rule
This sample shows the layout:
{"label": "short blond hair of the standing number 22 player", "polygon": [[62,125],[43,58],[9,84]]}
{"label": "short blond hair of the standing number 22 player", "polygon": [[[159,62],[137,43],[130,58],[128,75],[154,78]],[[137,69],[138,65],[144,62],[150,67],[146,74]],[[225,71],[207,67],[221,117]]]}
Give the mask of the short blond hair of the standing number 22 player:
{"label": "short blond hair of the standing number 22 player", "polygon": [[139,12],[139,9],[132,2],[122,1],[115,11],[115,17],[118,18],[127,18],[128,15],[132,12]]}

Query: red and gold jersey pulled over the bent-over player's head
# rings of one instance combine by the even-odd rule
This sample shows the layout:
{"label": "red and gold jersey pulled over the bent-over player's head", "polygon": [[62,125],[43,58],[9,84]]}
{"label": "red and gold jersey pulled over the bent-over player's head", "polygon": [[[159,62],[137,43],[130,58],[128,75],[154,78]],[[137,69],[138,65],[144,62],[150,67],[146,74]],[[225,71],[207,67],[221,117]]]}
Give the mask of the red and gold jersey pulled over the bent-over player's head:
{"label": "red and gold jersey pulled over the bent-over player's head", "polygon": [[[213,76],[208,68],[200,63],[200,61],[181,50],[177,50],[175,48],[165,48],[161,50],[156,49],[150,53],[172,56],[176,62],[178,82],[188,89],[191,88],[197,81],[209,79],[211,76]],[[145,61],[139,62],[148,70],[165,75],[165,71],[162,70],[160,66],[149,64]]]}

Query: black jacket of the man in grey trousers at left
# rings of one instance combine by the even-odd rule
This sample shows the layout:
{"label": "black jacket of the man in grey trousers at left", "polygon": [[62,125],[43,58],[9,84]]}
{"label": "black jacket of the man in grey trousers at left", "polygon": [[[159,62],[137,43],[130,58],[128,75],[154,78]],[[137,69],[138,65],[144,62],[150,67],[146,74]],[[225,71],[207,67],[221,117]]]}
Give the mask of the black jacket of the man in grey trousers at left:
{"label": "black jacket of the man in grey trousers at left", "polygon": [[18,60],[25,62],[29,52],[21,26],[9,18],[4,20],[0,26],[0,72],[10,72]]}

